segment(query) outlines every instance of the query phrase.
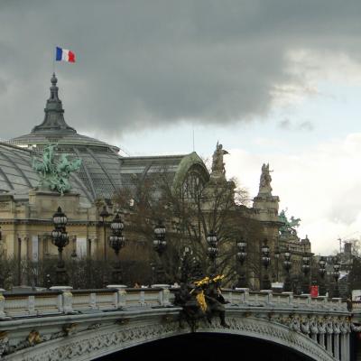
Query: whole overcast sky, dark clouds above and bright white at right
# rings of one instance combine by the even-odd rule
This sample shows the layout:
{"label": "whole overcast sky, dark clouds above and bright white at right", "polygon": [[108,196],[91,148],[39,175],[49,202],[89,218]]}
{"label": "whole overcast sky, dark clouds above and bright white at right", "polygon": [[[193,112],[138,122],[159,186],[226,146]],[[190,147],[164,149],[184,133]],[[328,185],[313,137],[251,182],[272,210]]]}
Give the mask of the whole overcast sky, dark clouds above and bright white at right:
{"label": "whole overcast sky, dark clouds above and bright white at right", "polygon": [[0,0],[1,139],[42,123],[55,46],[65,118],[131,155],[263,162],[315,253],[361,230],[361,2]]}

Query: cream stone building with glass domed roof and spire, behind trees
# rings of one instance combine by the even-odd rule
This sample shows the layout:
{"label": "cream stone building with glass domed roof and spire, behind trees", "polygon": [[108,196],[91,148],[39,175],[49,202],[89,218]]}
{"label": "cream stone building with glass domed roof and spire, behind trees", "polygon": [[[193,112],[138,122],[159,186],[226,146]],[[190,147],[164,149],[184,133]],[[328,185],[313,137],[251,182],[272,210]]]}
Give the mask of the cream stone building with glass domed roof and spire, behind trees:
{"label": "cream stone building with glass domed roof and spire, behind trees", "polygon": [[[106,209],[109,215],[106,220],[110,221],[117,210],[122,212],[113,201],[119,190],[134,190],[161,172],[167,173],[173,189],[183,188],[184,194],[191,194],[192,189],[201,184],[207,188],[209,199],[220,184],[232,186],[226,180],[223,155],[227,152],[221,144],[217,145],[212,171],[209,172],[194,152],[125,157],[119,154],[116,146],[79,134],[64,119],[57,81],[54,74],[42,124],[34,126],[30,134],[0,143],[1,257],[24,258],[33,262],[56,257],[57,248],[51,244],[52,216],[60,207],[69,219],[70,246],[65,249],[65,255],[106,260],[106,255],[110,257],[112,250],[107,243],[109,229],[104,227],[102,210]],[[72,172],[69,177],[72,190],[64,195],[40,186],[39,175],[32,167],[33,160],[41,160],[50,143],[56,144],[57,157],[68,154],[70,161],[81,160],[79,171]],[[259,223],[262,238],[267,238],[270,245],[271,255],[280,245],[285,249],[286,244],[305,250],[305,241],[297,236],[280,236],[279,198],[272,194],[271,181],[269,165],[264,164],[259,192],[253,206],[243,208],[243,215]],[[127,238],[139,241],[136,225],[129,227]],[[260,240],[249,240],[250,244],[252,242],[256,247],[260,245]],[[310,242],[307,251],[310,252]],[[275,273],[275,265],[271,267]],[[278,275],[276,278],[273,281],[279,281]]]}

